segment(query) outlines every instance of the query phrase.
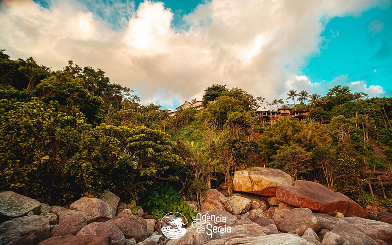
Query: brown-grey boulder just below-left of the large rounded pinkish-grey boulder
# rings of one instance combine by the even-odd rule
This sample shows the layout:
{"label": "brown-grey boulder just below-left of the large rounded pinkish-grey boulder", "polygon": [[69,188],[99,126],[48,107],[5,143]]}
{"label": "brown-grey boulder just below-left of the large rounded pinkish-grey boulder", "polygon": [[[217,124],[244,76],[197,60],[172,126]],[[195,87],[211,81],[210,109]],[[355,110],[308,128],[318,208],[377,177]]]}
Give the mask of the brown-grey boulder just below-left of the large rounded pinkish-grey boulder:
{"label": "brown-grey boulder just below-left of the large rounded pinkish-grey boulder", "polygon": [[87,226],[86,218],[81,214],[71,214],[55,226],[52,236],[76,235],[83,227]]}

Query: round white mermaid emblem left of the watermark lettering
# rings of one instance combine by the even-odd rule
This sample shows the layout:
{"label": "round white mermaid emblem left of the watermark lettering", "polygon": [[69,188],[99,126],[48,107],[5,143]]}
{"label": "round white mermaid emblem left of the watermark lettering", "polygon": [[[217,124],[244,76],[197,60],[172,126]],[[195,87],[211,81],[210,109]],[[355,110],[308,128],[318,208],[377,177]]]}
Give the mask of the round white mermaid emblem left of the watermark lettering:
{"label": "round white mermaid emblem left of the watermark lettering", "polygon": [[[186,221],[186,223],[183,223]],[[187,233],[185,226],[188,223],[187,218],[179,212],[170,212],[163,216],[161,220],[161,230],[163,235],[169,239],[180,239]]]}

